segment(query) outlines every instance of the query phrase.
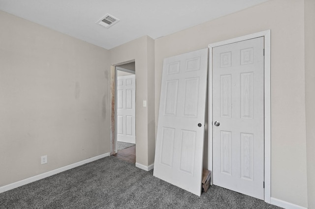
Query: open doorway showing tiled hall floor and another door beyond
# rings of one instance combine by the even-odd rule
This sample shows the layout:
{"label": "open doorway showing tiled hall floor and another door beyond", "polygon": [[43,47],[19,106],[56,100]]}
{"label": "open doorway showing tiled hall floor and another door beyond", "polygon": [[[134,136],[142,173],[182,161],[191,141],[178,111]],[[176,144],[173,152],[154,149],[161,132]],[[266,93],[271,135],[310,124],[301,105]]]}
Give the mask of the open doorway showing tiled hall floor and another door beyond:
{"label": "open doorway showing tiled hall floor and another door beyond", "polygon": [[114,102],[115,110],[112,125],[115,126],[115,132],[112,137],[112,155],[135,164],[135,62],[116,65],[113,70],[112,104]]}

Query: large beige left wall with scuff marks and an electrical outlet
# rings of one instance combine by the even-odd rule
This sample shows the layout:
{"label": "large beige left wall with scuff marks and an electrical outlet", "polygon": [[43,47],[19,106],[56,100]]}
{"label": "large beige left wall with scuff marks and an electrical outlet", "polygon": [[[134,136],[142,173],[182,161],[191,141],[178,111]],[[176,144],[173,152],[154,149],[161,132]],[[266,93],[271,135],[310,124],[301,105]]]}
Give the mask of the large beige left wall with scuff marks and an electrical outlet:
{"label": "large beige left wall with scuff marks and an electrical outlet", "polygon": [[110,152],[109,52],[2,11],[0,26],[0,186]]}

